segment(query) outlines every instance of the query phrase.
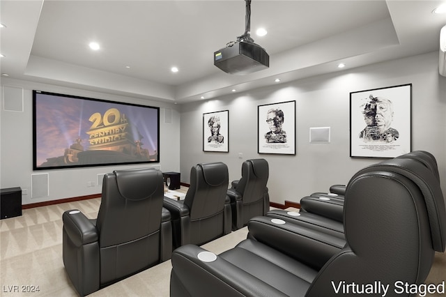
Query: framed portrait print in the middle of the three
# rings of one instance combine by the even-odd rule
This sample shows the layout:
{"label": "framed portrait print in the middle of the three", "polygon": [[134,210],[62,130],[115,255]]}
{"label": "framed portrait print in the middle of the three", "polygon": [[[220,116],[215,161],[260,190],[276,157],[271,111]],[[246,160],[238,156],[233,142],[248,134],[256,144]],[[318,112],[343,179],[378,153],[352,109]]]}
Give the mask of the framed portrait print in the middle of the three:
{"label": "framed portrait print in the middle of the three", "polygon": [[295,101],[259,105],[258,153],[295,155]]}

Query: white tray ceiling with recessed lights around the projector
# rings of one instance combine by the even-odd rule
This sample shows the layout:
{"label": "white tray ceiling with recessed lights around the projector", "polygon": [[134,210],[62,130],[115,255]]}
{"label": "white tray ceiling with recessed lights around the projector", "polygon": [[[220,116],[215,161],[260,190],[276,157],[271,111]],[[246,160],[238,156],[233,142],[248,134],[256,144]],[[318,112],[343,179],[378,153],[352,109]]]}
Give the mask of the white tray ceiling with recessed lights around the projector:
{"label": "white tray ceiling with recessed lights around the projector", "polygon": [[[213,53],[244,33],[244,0],[1,0],[0,67],[15,79],[190,102],[340,71],[339,62],[345,70],[437,51],[446,15],[431,12],[445,2],[253,0],[251,36],[270,68],[229,75]],[[260,26],[268,35],[255,35]]]}

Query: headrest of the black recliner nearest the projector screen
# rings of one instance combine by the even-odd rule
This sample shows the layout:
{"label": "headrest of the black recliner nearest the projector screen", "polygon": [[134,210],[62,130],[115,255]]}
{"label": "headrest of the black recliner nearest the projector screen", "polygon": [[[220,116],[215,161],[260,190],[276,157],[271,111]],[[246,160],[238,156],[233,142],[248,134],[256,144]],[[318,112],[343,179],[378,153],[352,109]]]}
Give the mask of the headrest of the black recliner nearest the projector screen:
{"label": "headrest of the black recliner nearest the projector screen", "polygon": [[[116,184],[119,193],[128,200],[142,200],[151,197],[159,183],[149,183],[160,172],[156,169],[115,170]],[[161,178],[161,177],[160,177]]]}

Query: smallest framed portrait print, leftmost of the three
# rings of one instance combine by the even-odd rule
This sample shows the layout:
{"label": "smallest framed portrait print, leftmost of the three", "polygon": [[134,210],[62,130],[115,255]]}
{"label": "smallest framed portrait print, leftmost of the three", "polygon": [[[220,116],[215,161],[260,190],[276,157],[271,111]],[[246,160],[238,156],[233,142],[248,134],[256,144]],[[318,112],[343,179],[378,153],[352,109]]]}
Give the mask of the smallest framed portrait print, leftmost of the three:
{"label": "smallest framed portrait print, leftmost of the three", "polygon": [[229,110],[203,114],[203,151],[229,152]]}

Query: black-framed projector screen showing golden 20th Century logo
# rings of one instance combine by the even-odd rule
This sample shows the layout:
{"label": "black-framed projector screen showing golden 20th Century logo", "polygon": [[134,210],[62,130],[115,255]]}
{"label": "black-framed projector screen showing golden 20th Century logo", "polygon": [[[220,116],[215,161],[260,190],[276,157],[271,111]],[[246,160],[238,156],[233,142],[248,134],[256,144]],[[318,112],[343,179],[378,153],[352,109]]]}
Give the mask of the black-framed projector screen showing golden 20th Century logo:
{"label": "black-framed projector screen showing golden 20th Century logo", "polygon": [[33,170],[160,162],[160,108],[33,91]]}

